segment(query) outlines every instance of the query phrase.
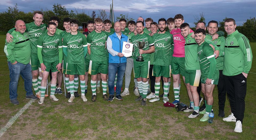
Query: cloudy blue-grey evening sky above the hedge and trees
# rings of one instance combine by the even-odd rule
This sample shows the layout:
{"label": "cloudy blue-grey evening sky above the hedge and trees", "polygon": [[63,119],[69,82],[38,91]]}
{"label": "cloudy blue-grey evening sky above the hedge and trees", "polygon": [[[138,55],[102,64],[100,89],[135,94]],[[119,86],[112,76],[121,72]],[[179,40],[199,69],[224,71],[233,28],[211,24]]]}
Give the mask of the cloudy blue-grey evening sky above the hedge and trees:
{"label": "cloudy blue-grey evening sky above the hedge and trees", "polygon": [[[165,3],[163,3],[165,2]],[[67,10],[84,10],[91,15],[92,11],[98,13],[98,9],[105,9],[107,14],[110,11],[111,0],[1,0],[0,12],[6,11],[9,6],[18,4],[20,11],[31,12],[32,10],[52,9],[54,3],[65,6]],[[154,21],[159,18],[174,17],[182,14],[185,22],[194,27],[195,16],[204,13],[206,23],[210,20],[222,21],[225,17],[233,18],[237,25],[242,25],[250,17],[256,17],[256,0],[212,0],[212,1],[191,1],[191,0],[114,0],[114,14],[129,14],[129,17],[137,20],[139,16],[144,19],[151,17]],[[191,26],[192,25],[192,26]]]}

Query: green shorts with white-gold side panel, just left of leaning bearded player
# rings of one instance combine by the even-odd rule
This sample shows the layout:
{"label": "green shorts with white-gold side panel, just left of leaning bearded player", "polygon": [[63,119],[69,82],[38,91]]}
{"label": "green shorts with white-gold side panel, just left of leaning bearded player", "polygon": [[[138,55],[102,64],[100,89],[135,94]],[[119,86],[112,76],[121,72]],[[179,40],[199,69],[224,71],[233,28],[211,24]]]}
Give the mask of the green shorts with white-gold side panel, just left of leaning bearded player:
{"label": "green shorts with white-gold side panel, just left of leaning bearded player", "polygon": [[189,83],[191,86],[199,86],[201,71],[185,69],[185,83]]}

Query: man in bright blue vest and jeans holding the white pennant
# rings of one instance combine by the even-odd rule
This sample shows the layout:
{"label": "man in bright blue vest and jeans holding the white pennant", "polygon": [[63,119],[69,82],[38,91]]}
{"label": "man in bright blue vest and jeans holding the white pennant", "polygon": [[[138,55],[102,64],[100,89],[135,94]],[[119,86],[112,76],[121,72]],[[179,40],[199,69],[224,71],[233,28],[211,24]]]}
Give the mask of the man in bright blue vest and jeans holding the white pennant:
{"label": "man in bright blue vest and jeans holding the white pennant", "polygon": [[129,38],[122,34],[121,23],[115,22],[114,24],[115,33],[111,34],[107,38],[107,51],[109,52],[109,102],[112,102],[115,98],[114,96],[114,81],[115,75],[117,73],[117,88],[116,88],[116,98],[118,100],[123,100],[121,94],[121,88],[123,85],[123,75],[126,69],[126,57],[122,54],[123,41],[129,42]]}

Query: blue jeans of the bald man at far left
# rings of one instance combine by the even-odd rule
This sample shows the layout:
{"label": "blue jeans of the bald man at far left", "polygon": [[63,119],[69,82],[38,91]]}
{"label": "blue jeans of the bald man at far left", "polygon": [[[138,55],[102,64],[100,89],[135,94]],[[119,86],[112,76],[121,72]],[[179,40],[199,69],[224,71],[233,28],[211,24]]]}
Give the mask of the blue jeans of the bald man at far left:
{"label": "blue jeans of the bald man at far left", "polygon": [[32,68],[31,65],[28,64],[11,64],[11,62],[8,62],[8,67],[10,71],[10,84],[9,84],[9,94],[10,99],[17,99],[17,86],[18,86],[18,80],[19,75],[24,79],[24,86],[26,90],[26,95],[33,95],[32,91]]}

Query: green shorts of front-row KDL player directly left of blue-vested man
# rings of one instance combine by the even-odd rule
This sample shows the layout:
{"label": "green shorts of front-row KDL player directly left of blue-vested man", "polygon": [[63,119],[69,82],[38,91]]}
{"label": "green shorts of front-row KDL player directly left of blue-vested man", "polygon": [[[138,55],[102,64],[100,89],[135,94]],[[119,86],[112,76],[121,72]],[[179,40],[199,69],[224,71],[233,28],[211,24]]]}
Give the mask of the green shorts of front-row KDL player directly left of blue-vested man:
{"label": "green shorts of front-row KDL player directly left of blue-vested man", "polygon": [[97,75],[98,73],[107,74],[109,66],[109,60],[105,61],[92,61],[90,60],[89,74]]}

